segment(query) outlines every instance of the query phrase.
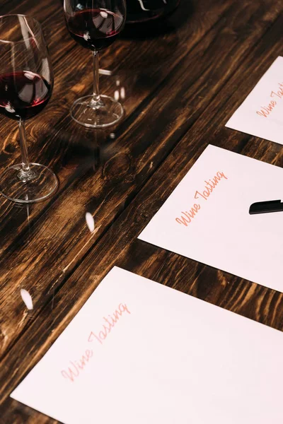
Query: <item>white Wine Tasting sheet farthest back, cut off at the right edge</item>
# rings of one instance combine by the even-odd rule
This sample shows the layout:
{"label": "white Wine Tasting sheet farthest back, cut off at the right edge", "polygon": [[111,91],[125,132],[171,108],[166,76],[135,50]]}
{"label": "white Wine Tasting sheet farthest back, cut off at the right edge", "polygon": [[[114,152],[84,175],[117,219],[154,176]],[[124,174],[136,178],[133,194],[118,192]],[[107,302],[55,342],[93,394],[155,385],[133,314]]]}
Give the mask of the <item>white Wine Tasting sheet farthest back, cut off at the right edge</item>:
{"label": "white Wine Tasting sheet farthest back, cut off at the right edge", "polygon": [[277,57],[226,126],[283,144],[283,57]]}

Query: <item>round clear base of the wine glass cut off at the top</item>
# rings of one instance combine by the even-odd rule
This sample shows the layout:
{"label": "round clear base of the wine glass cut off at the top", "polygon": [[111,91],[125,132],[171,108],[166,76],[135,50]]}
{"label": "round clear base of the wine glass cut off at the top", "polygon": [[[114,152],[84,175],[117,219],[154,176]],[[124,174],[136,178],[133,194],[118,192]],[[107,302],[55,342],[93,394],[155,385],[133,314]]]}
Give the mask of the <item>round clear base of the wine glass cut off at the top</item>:
{"label": "round clear base of the wine glass cut off at the top", "polygon": [[88,128],[106,128],[117,124],[124,116],[122,105],[108,95],[100,95],[100,98],[100,103],[94,100],[93,95],[76,100],[71,107],[74,121]]}

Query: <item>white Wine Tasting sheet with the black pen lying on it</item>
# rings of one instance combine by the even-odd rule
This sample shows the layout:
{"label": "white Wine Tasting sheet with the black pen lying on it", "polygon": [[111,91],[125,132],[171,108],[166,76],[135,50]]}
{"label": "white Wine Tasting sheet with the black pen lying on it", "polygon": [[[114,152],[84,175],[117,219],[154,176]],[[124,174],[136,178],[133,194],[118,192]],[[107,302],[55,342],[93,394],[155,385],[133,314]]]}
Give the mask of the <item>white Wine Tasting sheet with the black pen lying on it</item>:
{"label": "white Wine Tasting sheet with the black pen lying on it", "polygon": [[282,199],[282,181],[280,167],[209,145],[139,238],[283,292],[283,212],[248,212]]}

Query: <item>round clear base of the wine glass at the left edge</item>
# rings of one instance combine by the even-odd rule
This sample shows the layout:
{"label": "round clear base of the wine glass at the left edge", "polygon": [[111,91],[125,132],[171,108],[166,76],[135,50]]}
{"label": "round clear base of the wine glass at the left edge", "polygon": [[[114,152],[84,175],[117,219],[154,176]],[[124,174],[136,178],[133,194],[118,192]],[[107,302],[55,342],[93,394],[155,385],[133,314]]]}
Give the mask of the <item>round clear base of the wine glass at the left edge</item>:
{"label": "round clear base of the wine glass at the left edge", "polygon": [[0,175],[0,193],[6,199],[30,204],[50,197],[58,187],[54,172],[39,163],[30,163],[31,179],[21,175],[22,165],[8,167]]}

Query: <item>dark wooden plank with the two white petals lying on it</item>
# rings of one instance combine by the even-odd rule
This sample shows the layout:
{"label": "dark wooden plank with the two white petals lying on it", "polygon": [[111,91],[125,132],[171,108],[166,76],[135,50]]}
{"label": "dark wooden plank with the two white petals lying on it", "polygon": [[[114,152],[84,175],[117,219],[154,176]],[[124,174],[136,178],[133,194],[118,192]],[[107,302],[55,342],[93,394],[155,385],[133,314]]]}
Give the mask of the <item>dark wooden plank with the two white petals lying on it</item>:
{"label": "dark wooden plank with the two white petals lying on it", "polygon": [[[238,24],[235,8],[231,8],[230,12],[234,16],[234,20],[230,22],[235,23],[231,37],[227,35],[224,17],[225,19],[214,25],[200,45],[192,50],[192,57],[188,55],[183,59],[182,67],[179,66],[171,78],[163,83],[158,97],[151,99],[149,105],[144,107],[144,113],[139,114],[122,137],[110,144],[110,148],[101,148],[103,156],[109,157],[103,165],[102,175],[89,170],[88,162],[87,169],[84,169],[86,173],[81,177],[77,175],[76,181],[50,206],[48,213],[37,225],[30,228],[26,237],[16,240],[13,246],[10,245],[8,252],[2,252],[1,310],[8,310],[9,314],[8,322],[1,327],[6,335],[3,338],[2,354],[6,353],[8,346],[28,323],[21,298],[13,297],[15,289],[21,286],[31,290],[36,307],[42,307],[42,301],[45,302],[52,296],[52,290],[64,281],[83,255],[108,230],[125,207],[126,199],[129,201],[139,191],[154,169],[178,143],[180,136],[195,122],[233,74],[238,61],[245,57],[250,45],[262,35],[263,25],[258,25],[259,16],[255,15],[253,7],[244,6],[247,21],[252,25],[250,18],[253,16],[253,23],[258,29],[250,31],[246,45],[239,43],[235,31],[241,33],[243,28],[246,31],[246,23],[241,20],[241,24]],[[238,6],[237,10],[239,11]],[[267,9],[262,11],[263,16],[266,12]],[[202,55],[204,61],[200,62]],[[215,66],[216,60],[219,61],[218,66]],[[192,63],[195,63],[193,69]],[[209,86],[204,84],[208,78]],[[172,94],[173,101],[168,92]],[[166,122],[168,116],[171,117],[171,122],[164,126],[163,122]],[[42,151],[42,159],[45,154],[46,151]],[[54,155],[52,146],[49,155]],[[57,155],[54,156],[56,158]],[[109,210],[109,204],[113,205],[112,210]],[[89,235],[85,225],[86,211],[96,211],[97,228],[92,235]]]}

